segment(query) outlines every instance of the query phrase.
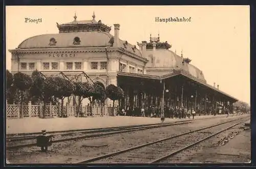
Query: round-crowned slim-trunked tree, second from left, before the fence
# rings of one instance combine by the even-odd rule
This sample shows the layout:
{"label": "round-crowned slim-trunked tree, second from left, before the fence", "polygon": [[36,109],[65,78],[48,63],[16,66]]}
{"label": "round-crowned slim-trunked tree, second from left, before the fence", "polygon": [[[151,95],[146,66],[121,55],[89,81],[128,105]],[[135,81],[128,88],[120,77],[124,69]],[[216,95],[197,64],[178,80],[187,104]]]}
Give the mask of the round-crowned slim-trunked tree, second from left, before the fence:
{"label": "round-crowned slim-trunked tree, second from left, before the fence", "polygon": [[32,79],[24,73],[15,73],[13,76],[13,85],[16,87],[16,89],[20,92],[20,103],[21,103],[21,115],[23,117],[23,101],[24,101],[24,94],[27,90],[30,89],[32,85]]}

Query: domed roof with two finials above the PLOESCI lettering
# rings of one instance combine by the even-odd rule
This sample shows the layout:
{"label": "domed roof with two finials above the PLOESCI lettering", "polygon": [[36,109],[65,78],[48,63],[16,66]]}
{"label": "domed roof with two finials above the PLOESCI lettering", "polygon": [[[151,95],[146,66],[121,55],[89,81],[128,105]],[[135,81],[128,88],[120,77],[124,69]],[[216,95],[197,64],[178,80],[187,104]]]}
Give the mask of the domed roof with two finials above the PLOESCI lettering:
{"label": "domed roof with two finials above the PLOESCI lettering", "polygon": [[[110,34],[111,26],[101,20],[76,20],[75,14],[72,22],[58,24],[59,34],[46,34],[30,37],[18,45],[20,49],[31,48],[68,48],[68,47],[105,47],[113,46],[114,36]],[[119,39],[118,47],[142,57],[135,45]]]}

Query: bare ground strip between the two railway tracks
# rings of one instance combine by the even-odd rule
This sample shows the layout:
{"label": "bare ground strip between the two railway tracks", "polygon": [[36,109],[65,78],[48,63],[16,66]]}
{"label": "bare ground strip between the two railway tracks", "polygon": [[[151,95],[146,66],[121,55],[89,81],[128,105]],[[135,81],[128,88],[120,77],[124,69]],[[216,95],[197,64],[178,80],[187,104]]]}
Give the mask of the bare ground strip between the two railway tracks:
{"label": "bare ground strip between the two railway tracks", "polygon": [[49,147],[48,153],[40,152],[40,148],[38,147],[23,148],[18,149],[18,151],[8,151],[7,159],[10,163],[76,163],[80,160],[138,146],[167,136],[221,123],[233,118],[239,117],[205,119],[187,125],[168,126],[56,143]]}

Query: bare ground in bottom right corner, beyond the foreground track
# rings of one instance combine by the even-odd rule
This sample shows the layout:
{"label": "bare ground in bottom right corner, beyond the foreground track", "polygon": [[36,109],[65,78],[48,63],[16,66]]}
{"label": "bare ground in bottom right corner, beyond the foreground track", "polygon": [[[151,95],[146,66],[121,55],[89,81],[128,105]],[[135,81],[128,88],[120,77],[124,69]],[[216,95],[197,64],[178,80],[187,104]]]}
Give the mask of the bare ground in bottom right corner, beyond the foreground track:
{"label": "bare ground in bottom right corner, beyond the foreground track", "polygon": [[246,163],[251,158],[250,130],[244,124],[168,158],[163,163]]}

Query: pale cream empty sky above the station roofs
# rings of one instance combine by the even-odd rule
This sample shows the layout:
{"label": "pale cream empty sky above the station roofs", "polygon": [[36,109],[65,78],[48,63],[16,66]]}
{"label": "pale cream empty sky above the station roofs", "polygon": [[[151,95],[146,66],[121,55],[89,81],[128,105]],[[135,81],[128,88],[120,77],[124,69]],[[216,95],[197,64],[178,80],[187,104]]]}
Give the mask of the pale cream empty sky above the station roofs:
{"label": "pale cream empty sky above the station roofs", "polygon": [[[7,6],[6,68],[11,54],[25,39],[41,34],[58,34],[59,24],[74,20],[95,20],[120,24],[119,38],[137,45],[160,35],[203,71],[209,85],[250,104],[250,9],[249,6]],[[190,22],[156,22],[159,18],[189,18]],[[25,18],[40,23],[26,23]]]}

